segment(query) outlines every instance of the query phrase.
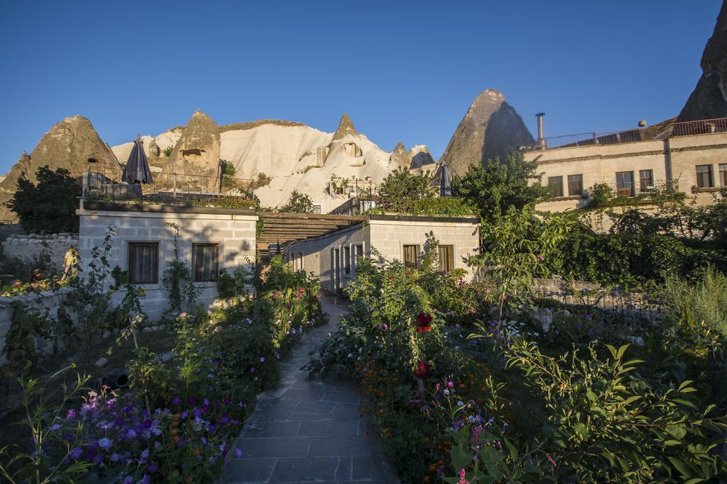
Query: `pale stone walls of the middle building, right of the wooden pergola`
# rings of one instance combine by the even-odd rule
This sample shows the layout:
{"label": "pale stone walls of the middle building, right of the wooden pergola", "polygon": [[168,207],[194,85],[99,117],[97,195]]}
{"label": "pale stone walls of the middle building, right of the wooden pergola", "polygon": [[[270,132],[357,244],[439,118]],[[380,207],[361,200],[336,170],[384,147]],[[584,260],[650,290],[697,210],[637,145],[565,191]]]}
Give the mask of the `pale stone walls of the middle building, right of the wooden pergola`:
{"label": "pale stone walls of the middle building, right of the wooden pergola", "polygon": [[[440,245],[452,246],[453,268],[467,269],[464,258],[479,247],[478,225],[475,217],[371,216],[366,223],[293,242],[286,248],[285,255],[294,268],[317,274],[324,288],[335,291],[346,287],[356,277],[357,251],[371,257],[371,248],[375,247],[388,261],[403,261],[404,245],[418,245],[420,264],[430,231]],[[347,254],[350,260],[346,258]],[[471,279],[470,274],[468,278]]]}

